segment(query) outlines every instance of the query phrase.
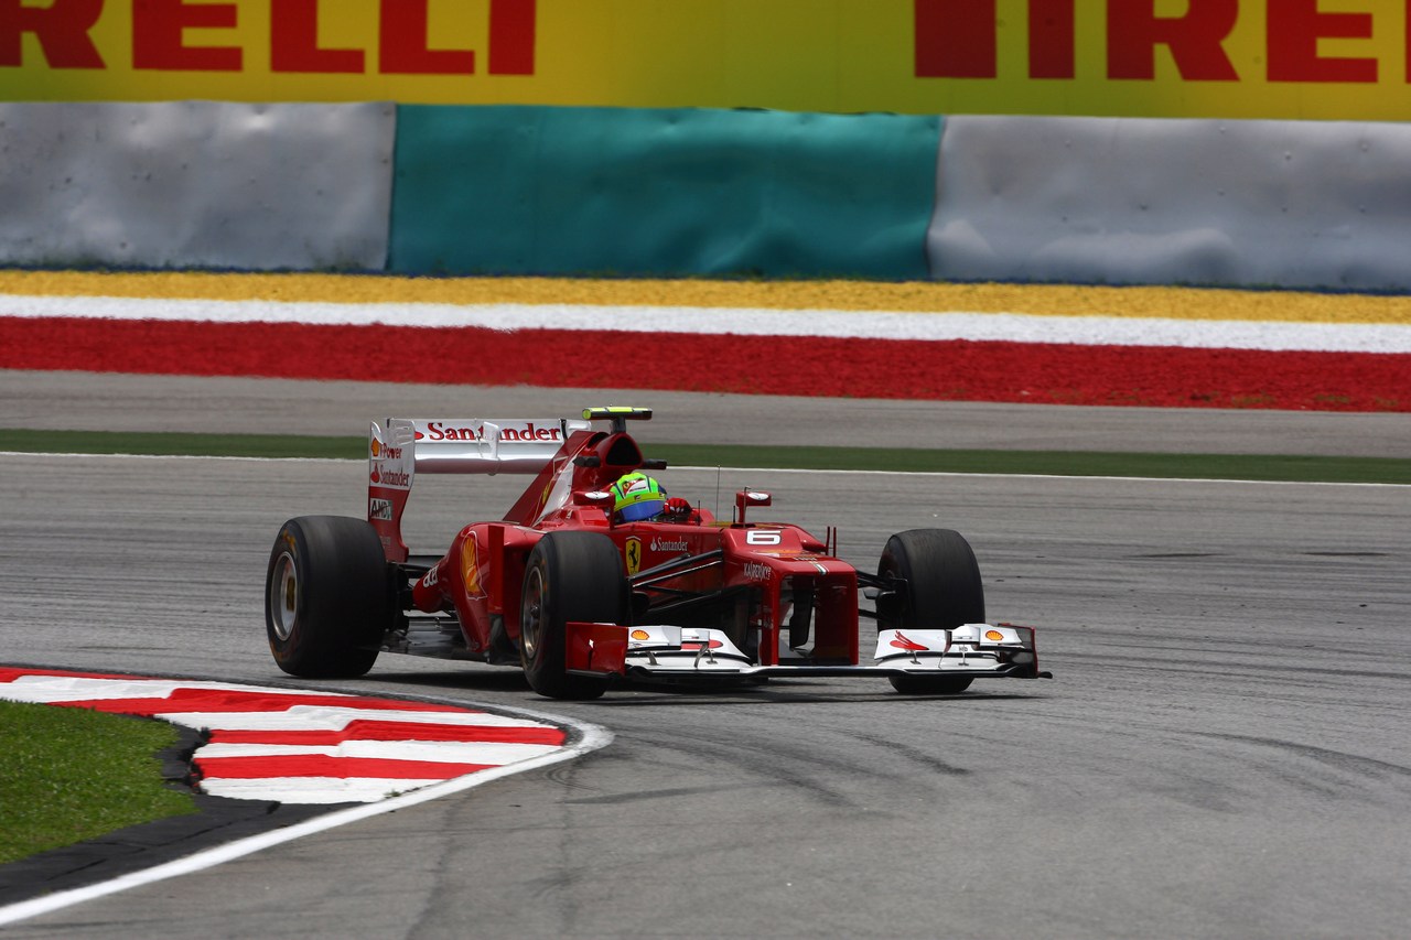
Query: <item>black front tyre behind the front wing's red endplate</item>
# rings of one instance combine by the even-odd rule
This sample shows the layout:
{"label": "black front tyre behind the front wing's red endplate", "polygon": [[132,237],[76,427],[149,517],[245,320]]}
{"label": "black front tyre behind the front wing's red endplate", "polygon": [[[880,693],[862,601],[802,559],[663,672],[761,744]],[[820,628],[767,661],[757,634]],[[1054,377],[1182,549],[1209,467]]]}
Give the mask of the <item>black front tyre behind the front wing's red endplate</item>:
{"label": "black front tyre behind the front wing's red endplate", "polygon": [[519,661],[529,687],[549,699],[597,699],[607,676],[567,672],[569,621],[628,622],[626,573],[617,545],[597,532],[550,532],[525,565]]}

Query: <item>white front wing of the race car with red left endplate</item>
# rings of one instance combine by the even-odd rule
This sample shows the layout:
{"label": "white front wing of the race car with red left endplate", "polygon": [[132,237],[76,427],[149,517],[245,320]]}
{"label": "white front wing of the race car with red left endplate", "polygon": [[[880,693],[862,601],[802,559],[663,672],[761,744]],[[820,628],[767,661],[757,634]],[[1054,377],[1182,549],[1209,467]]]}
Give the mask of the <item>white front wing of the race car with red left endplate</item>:
{"label": "white front wing of the race car with red left endplate", "polygon": [[964,624],[955,629],[883,629],[871,663],[825,665],[809,649],[782,649],[761,665],[718,629],[567,624],[566,666],[579,675],[708,679],[729,676],[969,676],[1051,679],[1038,670],[1033,627]]}

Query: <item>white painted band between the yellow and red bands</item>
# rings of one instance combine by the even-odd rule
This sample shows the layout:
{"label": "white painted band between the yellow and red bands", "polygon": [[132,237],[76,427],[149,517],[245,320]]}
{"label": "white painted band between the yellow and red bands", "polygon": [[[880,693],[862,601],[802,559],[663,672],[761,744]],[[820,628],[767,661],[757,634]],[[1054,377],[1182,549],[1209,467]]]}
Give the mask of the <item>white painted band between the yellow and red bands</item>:
{"label": "white painted band between the yellow and red bands", "polygon": [[1411,326],[1401,323],[1187,320],[965,311],[917,313],[567,303],[325,303],[4,294],[0,295],[0,316],[1411,353]]}

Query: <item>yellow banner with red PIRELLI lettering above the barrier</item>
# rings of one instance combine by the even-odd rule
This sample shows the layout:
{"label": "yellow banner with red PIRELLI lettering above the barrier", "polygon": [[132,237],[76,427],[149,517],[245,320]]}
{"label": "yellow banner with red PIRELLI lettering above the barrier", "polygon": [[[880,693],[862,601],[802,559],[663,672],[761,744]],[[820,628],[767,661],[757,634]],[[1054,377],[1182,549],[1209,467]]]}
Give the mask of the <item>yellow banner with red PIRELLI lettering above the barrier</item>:
{"label": "yellow banner with red PIRELLI lettering above the barrier", "polygon": [[0,99],[1411,117],[1408,0],[0,0]]}

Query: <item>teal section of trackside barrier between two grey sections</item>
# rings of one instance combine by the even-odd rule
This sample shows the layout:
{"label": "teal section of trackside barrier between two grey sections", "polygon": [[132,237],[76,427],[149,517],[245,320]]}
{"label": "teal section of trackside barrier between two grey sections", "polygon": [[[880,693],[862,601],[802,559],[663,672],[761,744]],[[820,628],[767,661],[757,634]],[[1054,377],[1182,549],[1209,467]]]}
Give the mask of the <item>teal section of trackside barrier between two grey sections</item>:
{"label": "teal section of trackside barrier between two grey sections", "polygon": [[399,274],[928,277],[941,119],[398,109]]}

